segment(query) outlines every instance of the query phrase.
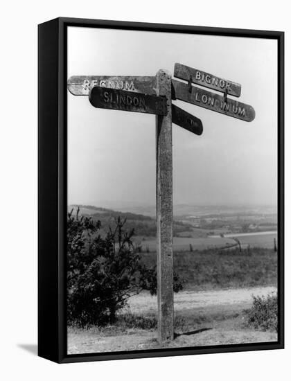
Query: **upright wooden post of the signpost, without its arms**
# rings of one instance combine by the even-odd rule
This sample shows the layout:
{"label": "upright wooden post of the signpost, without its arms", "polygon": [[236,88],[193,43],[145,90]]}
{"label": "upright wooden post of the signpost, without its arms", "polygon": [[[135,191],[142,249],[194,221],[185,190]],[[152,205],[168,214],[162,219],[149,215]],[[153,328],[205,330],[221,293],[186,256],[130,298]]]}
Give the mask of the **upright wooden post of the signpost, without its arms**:
{"label": "upright wooden post of the signpost, without its arms", "polygon": [[159,342],[165,342],[174,337],[172,100],[168,71],[157,73],[157,95],[166,97],[168,108],[166,116],[156,116],[158,337]]}

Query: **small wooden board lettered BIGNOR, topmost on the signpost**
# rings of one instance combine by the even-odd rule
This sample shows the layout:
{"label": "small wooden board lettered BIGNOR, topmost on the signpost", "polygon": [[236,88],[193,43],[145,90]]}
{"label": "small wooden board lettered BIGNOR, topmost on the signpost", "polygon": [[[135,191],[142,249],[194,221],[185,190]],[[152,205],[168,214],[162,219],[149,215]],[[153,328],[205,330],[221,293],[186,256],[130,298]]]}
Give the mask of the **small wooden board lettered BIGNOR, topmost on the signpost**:
{"label": "small wooden board lettered BIGNOR, topmost on the signpost", "polygon": [[232,96],[240,96],[241,85],[230,80],[224,80],[224,78],[219,78],[213,76],[205,71],[194,69],[182,64],[175,64],[174,77],[180,80],[186,80],[195,83],[196,85],[208,87],[216,91],[222,91]]}

